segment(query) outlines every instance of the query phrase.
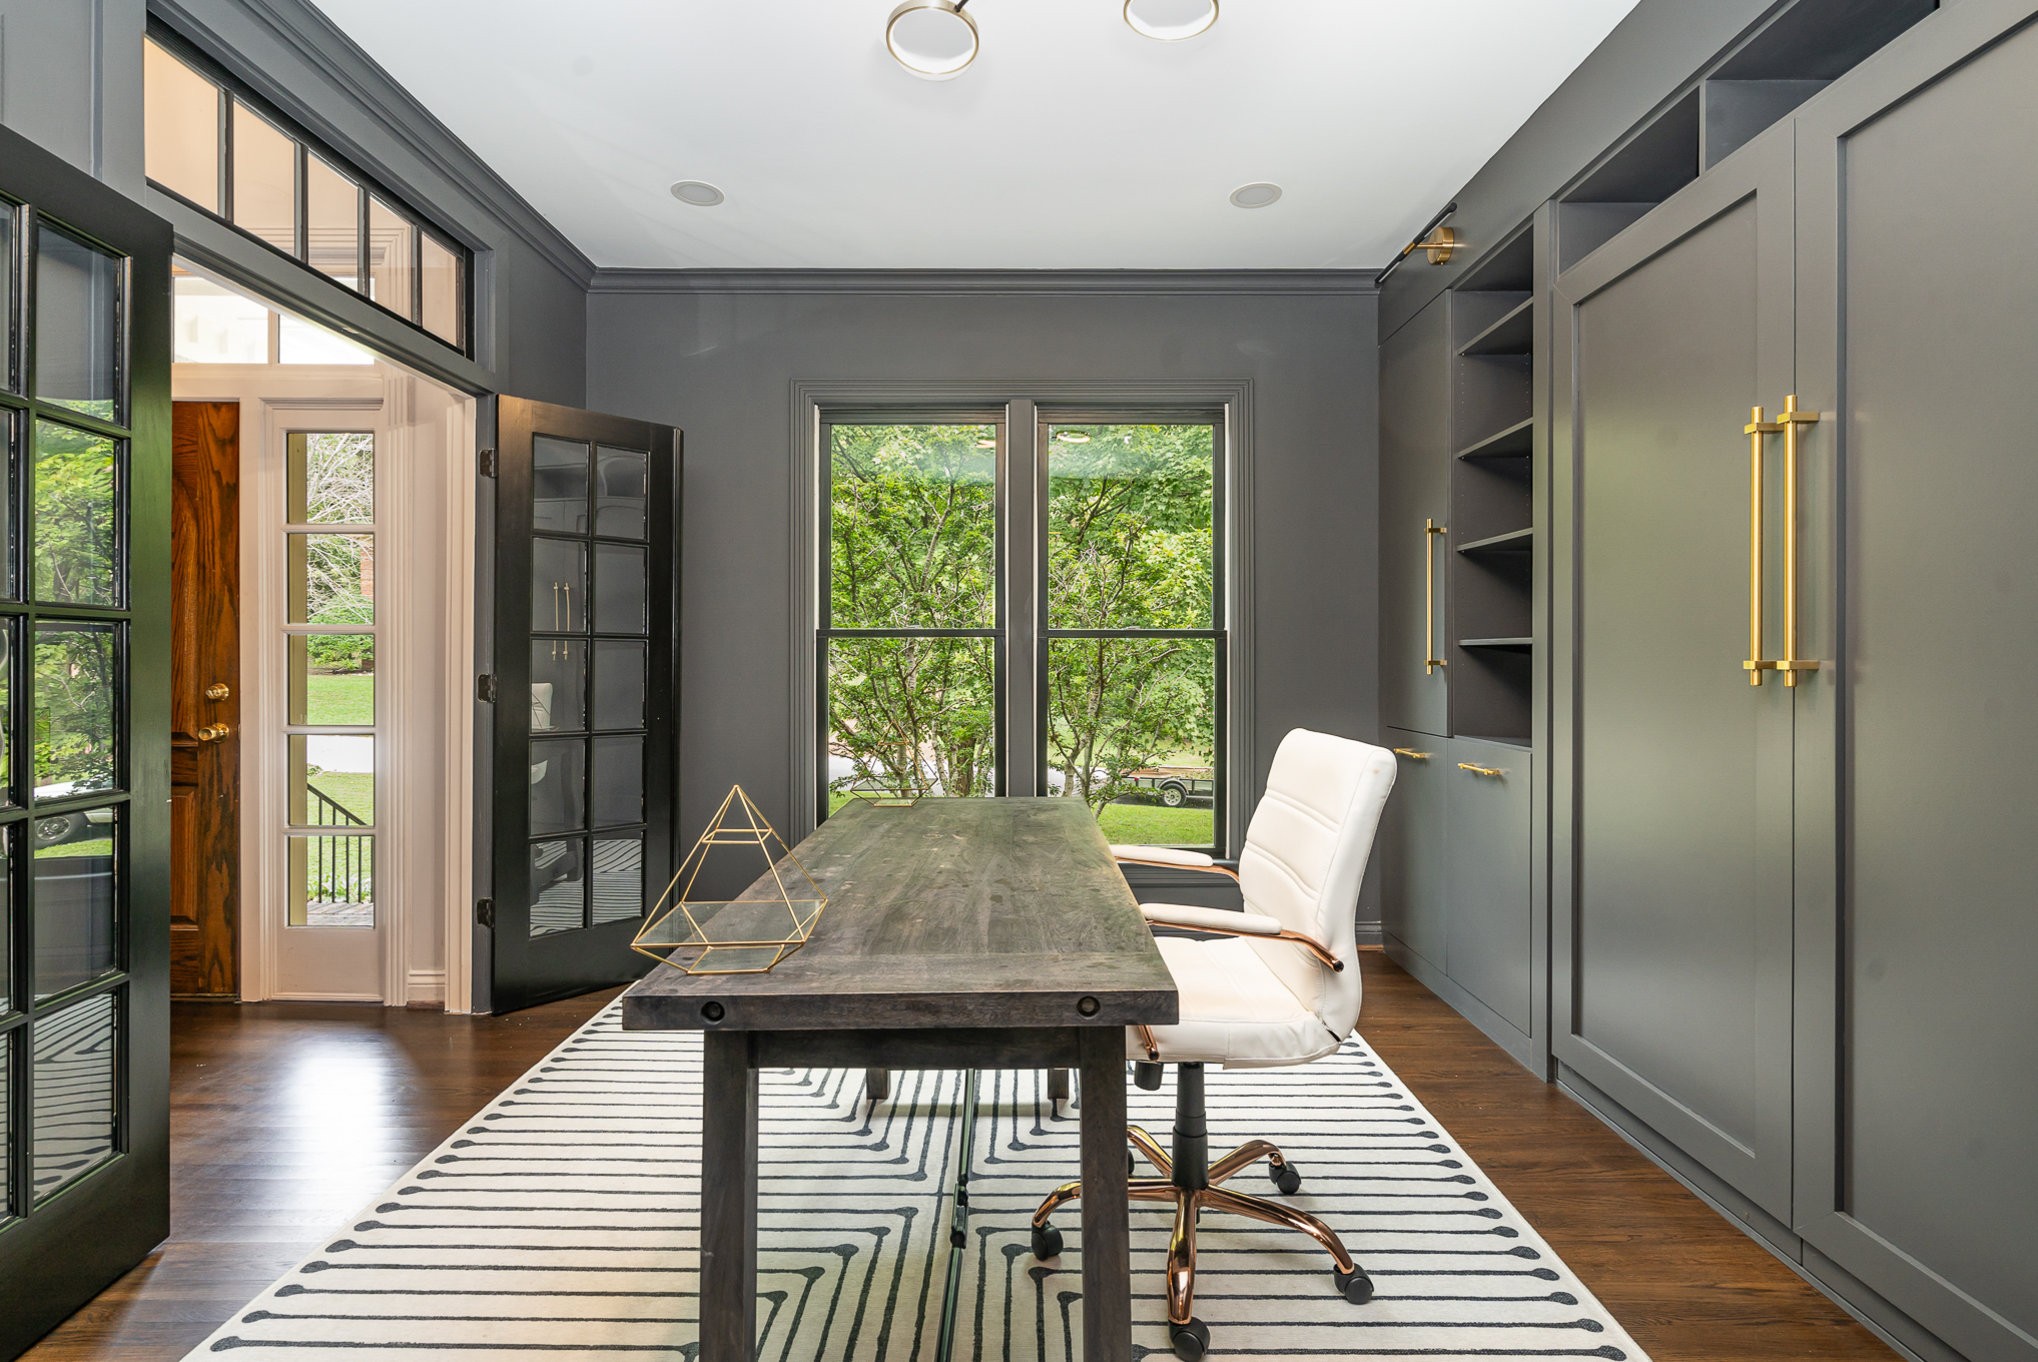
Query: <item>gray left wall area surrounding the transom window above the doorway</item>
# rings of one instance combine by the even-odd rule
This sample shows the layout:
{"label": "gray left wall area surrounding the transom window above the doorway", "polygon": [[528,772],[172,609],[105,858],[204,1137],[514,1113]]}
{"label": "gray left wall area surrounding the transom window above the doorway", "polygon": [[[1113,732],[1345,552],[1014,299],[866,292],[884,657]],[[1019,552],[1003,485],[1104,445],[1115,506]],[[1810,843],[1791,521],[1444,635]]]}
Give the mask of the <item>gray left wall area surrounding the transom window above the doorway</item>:
{"label": "gray left wall area surrounding the transom window above the doorway", "polygon": [[[147,188],[151,8],[475,251],[473,363]],[[204,265],[434,377],[585,402],[593,265],[306,0],[0,0],[0,122],[167,216]]]}

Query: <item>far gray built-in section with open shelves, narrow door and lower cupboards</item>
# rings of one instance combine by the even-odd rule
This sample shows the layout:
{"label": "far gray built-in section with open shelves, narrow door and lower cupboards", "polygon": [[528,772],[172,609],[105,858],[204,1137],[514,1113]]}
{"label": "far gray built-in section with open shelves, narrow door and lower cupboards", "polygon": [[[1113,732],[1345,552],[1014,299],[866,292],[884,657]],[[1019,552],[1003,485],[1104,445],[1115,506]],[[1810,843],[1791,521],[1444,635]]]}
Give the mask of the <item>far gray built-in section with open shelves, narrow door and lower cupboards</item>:
{"label": "far gray built-in section with open shelves, narrow door and lower cupboards", "polygon": [[1531,1068],[1547,1062],[1535,799],[1543,563],[1539,251],[1510,232],[1380,343],[1382,940]]}

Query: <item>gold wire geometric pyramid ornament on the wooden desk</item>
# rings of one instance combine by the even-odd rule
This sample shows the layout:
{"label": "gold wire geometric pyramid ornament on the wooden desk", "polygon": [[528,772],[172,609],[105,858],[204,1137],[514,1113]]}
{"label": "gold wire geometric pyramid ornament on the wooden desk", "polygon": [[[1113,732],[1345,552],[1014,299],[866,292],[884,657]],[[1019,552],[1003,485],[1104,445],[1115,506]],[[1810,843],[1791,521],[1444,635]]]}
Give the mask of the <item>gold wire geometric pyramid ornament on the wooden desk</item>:
{"label": "gold wire geometric pyramid ornament on the wooden desk", "polygon": [[[734,899],[695,899],[693,885],[717,848],[756,848],[758,881]],[[721,860],[732,856],[748,860],[742,850]],[[732,785],[630,946],[689,975],[762,975],[807,944],[823,907],[827,895],[807,867],[744,787]]]}

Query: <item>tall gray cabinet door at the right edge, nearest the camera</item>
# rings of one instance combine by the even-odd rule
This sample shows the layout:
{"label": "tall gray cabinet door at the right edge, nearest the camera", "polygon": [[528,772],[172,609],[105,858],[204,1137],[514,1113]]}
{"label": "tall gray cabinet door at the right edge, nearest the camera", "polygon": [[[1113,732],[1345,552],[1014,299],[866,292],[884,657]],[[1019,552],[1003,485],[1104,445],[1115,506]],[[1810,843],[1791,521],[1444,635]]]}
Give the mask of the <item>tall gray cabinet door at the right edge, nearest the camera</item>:
{"label": "tall gray cabinet door at the right edge, nearest the camera", "polygon": [[[1948,6],[1798,124],[1840,630],[1800,714],[1795,1227],[1989,1360],[2038,1356],[2032,8]],[[1985,249],[1948,257],[1948,222]]]}

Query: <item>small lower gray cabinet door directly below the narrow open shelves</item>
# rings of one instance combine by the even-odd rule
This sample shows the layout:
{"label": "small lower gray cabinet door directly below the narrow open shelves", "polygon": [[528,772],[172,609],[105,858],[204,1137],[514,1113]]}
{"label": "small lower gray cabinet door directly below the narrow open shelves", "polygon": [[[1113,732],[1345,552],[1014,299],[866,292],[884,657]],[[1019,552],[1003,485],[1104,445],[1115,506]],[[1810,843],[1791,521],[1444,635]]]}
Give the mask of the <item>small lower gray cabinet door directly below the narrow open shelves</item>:
{"label": "small lower gray cabinet door directly below the narrow open shelves", "polygon": [[1522,1036],[1531,1032],[1528,750],[1457,742],[1449,787],[1451,905],[1445,958],[1453,983]]}

